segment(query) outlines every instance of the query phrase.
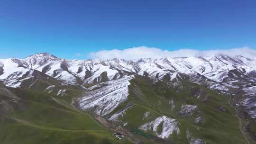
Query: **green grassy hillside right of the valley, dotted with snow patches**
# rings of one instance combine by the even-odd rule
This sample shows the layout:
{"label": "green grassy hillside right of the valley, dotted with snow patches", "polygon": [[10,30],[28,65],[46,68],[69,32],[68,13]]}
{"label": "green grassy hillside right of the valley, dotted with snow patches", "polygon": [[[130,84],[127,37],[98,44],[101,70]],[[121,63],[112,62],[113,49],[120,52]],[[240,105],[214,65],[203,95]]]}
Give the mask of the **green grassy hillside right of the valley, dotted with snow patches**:
{"label": "green grassy hillside right of the valley, dotted with snow patches", "polygon": [[[123,117],[119,117],[120,120],[128,123],[126,128],[132,130],[156,117],[165,115],[175,118],[181,124],[179,126],[181,134],[174,134],[170,137],[175,144],[189,144],[186,136],[187,130],[192,133],[193,137],[201,138],[207,144],[247,144],[239,130],[235,109],[228,103],[229,96],[220,95],[188,81],[182,81],[182,89],[180,89],[181,85],[167,87],[165,81],[152,84],[148,79],[141,76],[137,76],[130,82],[129,100],[123,106],[129,103],[135,105],[128,109]],[[201,97],[193,96],[200,89],[202,90]],[[170,100],[174,100],[174,109],[171,108]],[[179,110],[183,104],[196,105],[198,111],[192,116],[182,117]],[[225,112],[219,110],[220,107],[224,108]],[[150,112],[151,115],[143,119],[146,112]],[[194,122],[194,118],[199,114],[204,118],[203,124]],[[146,134],[154,135],[152,131],[146,132]]]}

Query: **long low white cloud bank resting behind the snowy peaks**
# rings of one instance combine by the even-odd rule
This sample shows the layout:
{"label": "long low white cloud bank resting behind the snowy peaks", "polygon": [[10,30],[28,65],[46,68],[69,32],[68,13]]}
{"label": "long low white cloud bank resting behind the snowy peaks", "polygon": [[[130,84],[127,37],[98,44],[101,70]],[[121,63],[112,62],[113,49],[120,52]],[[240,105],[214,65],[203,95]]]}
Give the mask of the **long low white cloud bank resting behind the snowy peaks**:
{"label": "long low white cloud bank resting behind the snowy peaks", "polygon": [[175,51],[162,50],[155,47],[139,46],[124,50],[102,50],[90,53],[92,59],[139,59],[139,58],[164,58],[164,57],[184,57],[184,56],[213,56],[215,54],[227,54],[229,56],[243,55],[248,58],[256,58],[256,50],[250,47],[232,48],[227,50],[206,50],[180,49]]}

